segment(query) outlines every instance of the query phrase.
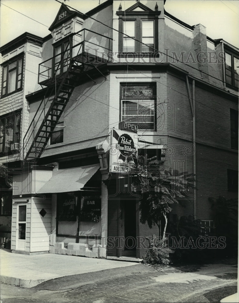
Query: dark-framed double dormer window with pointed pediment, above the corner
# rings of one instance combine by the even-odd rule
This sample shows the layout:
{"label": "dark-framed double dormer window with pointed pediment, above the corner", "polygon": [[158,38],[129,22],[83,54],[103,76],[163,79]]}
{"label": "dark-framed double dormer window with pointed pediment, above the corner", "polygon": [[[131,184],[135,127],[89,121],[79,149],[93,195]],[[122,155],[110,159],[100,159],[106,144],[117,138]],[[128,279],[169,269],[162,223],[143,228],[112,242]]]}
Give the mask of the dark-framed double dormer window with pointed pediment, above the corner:
{"label": "dark-framed double dormer window with pointed pediment, above the corner", "polygon": [[140,2],[119,15],[119,53],[155,53],[158,49],[159,11]]}

